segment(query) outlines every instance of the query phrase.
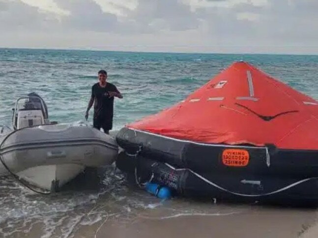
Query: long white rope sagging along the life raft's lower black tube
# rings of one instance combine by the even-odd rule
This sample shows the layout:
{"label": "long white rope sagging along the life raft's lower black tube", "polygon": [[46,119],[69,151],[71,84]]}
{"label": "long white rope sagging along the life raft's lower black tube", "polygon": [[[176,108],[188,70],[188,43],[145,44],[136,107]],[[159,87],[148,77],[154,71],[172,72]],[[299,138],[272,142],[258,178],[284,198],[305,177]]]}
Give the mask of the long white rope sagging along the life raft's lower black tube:
{"label": "long white rope sagging along the life raft's lower black tube", "polygon": [[194,174],[195,176],[197,176],[199,179],[203,180],[204,182],[206,182],[207,184],[209,185],[212,185],[212,186],[215,186],[223,191],[226,191],[226,192],[229,192],[231,194],[234,194],[234,195],[239,195],[239,196],[245,196],[245,197],[260,197],[260,196],[267,196],[267,195],[272,195],[272,194],[275,194],[275,193],[279,193],[279,192],[282,192],[284,190],[287,190],[289,189],[290,187],[293,187],[293,186],[296,186],[296,185],[299,185],[299,184],[302,184],[304,182],[307,182],[309,180],[312,180],[312,179],[317,179],[317,177],[314,177],[314,178],[308,178],[308,179],[303,179],[303,180],[300,180],[296,183],[293,183],[293,184],[290,184],[288,186],[285,186],[283,188],[280,188],[278,190],[275,190],[275,191],[272,191],[272,192],[268,192],[268,193],[263,193],[263,194],[243,194],[243,193],[237,193],[237,192],[232,192],[224,187],[221,187],[217,184],[214,184],[213,182],[209,181],[208,179],[204,178],[203,176],[201,176],[200,174],[194,172],[193,170],[191,169],[177,169],[177,168],[174,168],[172,165],[168,164],[168,163],[165,163],[169,168],[175,170],[175,171],[182,171],[182,170],[188,170],[189,172],[191,172],[192,174]]}

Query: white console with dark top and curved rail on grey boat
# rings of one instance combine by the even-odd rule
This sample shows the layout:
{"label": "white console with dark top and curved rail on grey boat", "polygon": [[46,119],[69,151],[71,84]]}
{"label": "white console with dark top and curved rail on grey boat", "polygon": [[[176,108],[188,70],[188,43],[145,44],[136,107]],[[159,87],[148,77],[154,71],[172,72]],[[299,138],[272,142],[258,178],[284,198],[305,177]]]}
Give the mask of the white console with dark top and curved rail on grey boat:
{"label": "white console with dark top and curved rail on grey boat", "polygon": [[18,98],[13,109],[13,128],[50,124],[48,109],[43,99],[36,93]]}

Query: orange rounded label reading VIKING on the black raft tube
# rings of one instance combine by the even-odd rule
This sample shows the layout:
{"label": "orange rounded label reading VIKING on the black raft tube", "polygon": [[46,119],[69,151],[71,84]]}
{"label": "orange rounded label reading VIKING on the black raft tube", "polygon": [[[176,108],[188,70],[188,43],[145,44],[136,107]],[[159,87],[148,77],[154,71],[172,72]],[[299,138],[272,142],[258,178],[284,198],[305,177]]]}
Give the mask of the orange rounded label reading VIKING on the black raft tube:
{"label": "orange rounded label reading VIKING on the black raft tube", "polygon": [[227,166],[244,167],[248,165],[250,155],[247,150],[226,149],[222,153],[222,162]]}

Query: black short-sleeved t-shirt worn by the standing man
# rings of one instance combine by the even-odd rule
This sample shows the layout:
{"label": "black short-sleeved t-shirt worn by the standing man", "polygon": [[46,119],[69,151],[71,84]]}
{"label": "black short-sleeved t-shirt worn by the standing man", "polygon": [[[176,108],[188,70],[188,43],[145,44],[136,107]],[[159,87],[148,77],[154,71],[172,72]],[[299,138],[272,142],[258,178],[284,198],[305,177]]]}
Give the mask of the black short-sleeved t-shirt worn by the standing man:
{"label": "black short-sleeved t-shirt worn by the standing man", "polygon": [[105,87],[95,83],[91,88],[91,97],[94,98],[94,119],[101,121],[113,120],[114,97],[109,98],[108,92],[119,92],[110,82]]}

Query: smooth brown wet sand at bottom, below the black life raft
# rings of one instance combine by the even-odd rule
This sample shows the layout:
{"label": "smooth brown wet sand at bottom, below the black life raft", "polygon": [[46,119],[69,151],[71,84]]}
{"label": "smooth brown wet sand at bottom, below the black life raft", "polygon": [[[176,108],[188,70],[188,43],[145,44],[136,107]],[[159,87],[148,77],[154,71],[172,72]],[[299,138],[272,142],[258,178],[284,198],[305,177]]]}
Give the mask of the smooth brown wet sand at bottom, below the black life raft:
{"label": "smooth brown wet sand at bottom, below the black life raft", "polygon": [[[213,205],[211,205],[213,206]],[[215,213],[174,213],[146,210],[122,223],[108,216],[99,224],[79,229],[76,238],[317,238],[315,209],[222,206]],[[309,228],[309,230],[308,230]],[[308,231],[307,231],[308,230]],[[316,235],[315,235],[316,234]]]}

